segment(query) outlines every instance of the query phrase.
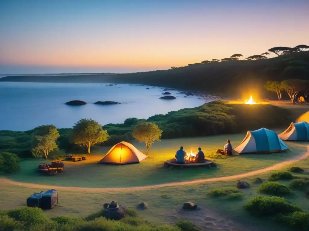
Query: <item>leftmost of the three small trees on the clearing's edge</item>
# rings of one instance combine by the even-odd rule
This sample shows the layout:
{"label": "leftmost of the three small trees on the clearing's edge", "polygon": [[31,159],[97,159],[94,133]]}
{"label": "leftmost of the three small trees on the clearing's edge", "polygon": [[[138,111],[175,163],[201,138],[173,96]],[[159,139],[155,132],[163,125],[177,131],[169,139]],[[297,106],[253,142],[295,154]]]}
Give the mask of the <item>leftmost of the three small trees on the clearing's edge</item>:
{"label": "leftmost of the three small trees on the clearing's edge", "polygon": [[45,156],[47,160],[47,156],[49,152],[58,149],[58,145],[56,143],[59,138],[59,132],[54,125],[42,125],[34,129],[33,136],[33,149],[32,153],[35,157]]}

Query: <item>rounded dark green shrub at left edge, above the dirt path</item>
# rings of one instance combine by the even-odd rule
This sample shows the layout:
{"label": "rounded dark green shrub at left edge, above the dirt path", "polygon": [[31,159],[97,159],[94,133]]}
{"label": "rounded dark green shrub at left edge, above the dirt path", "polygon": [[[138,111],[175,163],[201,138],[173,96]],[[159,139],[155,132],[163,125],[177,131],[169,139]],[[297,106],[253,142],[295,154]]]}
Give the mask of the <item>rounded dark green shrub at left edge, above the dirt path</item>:
{"label": "rounded dark green shrub at left edge, above the dirt path", "polygon": [[19,169],[19,158],[10,152],[0,152],[0,171],[13,173]]}

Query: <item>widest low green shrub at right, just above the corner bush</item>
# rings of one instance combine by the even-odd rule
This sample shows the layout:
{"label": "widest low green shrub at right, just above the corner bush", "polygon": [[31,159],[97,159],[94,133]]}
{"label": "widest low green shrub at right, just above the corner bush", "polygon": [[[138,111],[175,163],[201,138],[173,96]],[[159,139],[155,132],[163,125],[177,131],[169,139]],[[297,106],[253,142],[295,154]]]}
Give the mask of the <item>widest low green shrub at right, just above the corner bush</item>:
{"label": "widest low green shrub at right, just above the corner bush", "polygon": [[301,211],[297,206],[288,203],[285,198],[265,196],[253,197],[244,208],[255,216],[274,216]]}

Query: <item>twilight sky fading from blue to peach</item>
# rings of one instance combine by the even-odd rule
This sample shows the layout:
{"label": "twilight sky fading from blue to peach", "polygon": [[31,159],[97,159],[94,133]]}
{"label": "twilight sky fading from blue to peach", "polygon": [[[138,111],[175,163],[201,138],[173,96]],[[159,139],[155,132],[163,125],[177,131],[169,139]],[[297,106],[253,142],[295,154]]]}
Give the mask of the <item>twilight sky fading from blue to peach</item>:
{"label": "twilight sky fading from blue to peach", "polygon": [[309,45],[308,0],[1,0],[0,74],[133,72]]}

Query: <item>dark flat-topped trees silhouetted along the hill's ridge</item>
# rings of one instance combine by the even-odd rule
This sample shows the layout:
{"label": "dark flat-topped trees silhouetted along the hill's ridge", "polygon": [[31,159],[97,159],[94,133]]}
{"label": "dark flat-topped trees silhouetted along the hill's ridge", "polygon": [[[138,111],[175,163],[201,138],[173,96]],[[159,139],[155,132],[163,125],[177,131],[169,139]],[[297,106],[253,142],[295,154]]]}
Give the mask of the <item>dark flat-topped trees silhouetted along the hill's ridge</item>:
{"label": "dark flat-topped trees silhouetted along the hill's ridge", "polygon": [[[296,47],[272,47],[270,49],[268,49],[269,52],[272,52],[276,55],[287,55],[287,54],[291,54],[291,53],[295,53],[295,52],[301,52],[301,51],[307,51],[309,50],[309,46],[301,44],[298,45]],[[265,55],[270,55],[269,52],[264,52],[261,55],[252,55],[249,56],[247,58],[245,58],[244,60],[258,60],[258,59],[267,59],[267,57]],[[240,57],[243,57],[242,54],[234,54],[231,55],[230,58],[224,58],[224,59],[212,59],[211,61],[209,60],[204,60],[201,63],[190,63],[188,64],[188,66],[191,65],[197,65],[197,64],[206,64],[206,63],[216,63],[216,62],[225,62],[225,61],[231,61],[231,60],[239,60]],[[171,67],[171,69],[176,69],[178,67]]]}

